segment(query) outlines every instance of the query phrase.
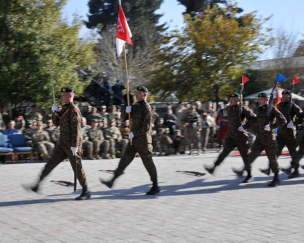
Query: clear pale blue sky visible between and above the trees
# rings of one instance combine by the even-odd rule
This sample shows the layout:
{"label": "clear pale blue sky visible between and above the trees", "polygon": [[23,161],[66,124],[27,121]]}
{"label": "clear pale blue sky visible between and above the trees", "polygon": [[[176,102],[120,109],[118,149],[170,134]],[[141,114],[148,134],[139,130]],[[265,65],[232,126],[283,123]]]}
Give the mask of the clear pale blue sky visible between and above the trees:
{"label": "clear pale blue sky visible between and above the trees", "polygon": [[[267,27],[276,31],[292,32],[297,34],[297,39],[304,38],[304,0],[233,0],[233,2],[238,3],[238,6],[244,10],[243,13],[257,11],[257,15],[263,17],[269,17],[273,14]],[[87,19],[86,14],[89,11],[87,4],[88,0],[68,0],[63,14],[71,17],[73,13],[77,13]],[[123,0],[121,4],[123,6]],[[170,29],[180,29],[183,26],[182,12],[184,11],[185,7],[178,5],[176,0],[164,0],[157,13],[164,14],[160,19],[161,24],[167,22]],[[83,27],[81,34],[85,34],[87,31],[86,27]]]}

